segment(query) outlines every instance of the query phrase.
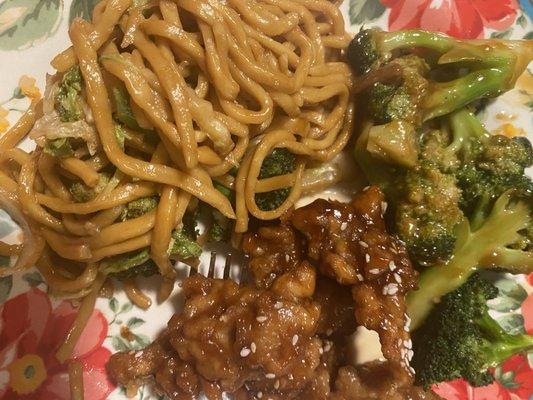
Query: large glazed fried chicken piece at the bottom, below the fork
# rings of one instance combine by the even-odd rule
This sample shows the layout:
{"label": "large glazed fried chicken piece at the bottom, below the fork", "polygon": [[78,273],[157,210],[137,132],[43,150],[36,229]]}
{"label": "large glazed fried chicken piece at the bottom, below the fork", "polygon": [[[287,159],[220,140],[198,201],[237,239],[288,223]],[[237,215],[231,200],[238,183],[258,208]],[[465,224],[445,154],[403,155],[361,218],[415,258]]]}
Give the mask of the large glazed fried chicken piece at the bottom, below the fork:
{"label": "large glazed fried chicken piece at the bottom, below the fork", "polygon": [[[302,266],[308,273],[305,263]],[[311,272],[302,276],[314,282]],[[206,382],[216,382],[221,391],[235,392],[246,384],[251,393],[272,399],[297,398],[321,363],[318,304],[201,275],[186,279],[183,291],[183,312],[170,320],[150,352],[112,356],[109,371],[118,383],[128,385],[154,375],[159,389],[176,399],[185,398],[175,393],[186,390],[197,390],[192,396],[198,395]],[[178,387],[180,371],[195,371],[197,379]]]}

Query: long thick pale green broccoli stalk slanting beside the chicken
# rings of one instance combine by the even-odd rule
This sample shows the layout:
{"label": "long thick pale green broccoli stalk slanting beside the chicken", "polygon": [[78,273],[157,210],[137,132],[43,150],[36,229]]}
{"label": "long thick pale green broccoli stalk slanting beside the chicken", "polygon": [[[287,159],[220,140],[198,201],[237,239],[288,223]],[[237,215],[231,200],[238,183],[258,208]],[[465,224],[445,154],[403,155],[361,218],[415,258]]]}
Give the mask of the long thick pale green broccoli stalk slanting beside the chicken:
{"label": "long thick pale green broccoli stalk slanting beside the chicken", "polygon": [[[410,292],[407,307],[411,328],[425,320],[442,296],[457,289],[480,267],[487,267],[493,253],[519,238],[519,231],[529,222],[529,209],[523,203],[507,208],[510,194],[503,195],[494,205],[484,224],[470,232],[468,224],[459,228],[454,256],[445,265],[430,267],[420,275],[419,289]],[[511,272],[521,273],[523,265],[504,265]]]}

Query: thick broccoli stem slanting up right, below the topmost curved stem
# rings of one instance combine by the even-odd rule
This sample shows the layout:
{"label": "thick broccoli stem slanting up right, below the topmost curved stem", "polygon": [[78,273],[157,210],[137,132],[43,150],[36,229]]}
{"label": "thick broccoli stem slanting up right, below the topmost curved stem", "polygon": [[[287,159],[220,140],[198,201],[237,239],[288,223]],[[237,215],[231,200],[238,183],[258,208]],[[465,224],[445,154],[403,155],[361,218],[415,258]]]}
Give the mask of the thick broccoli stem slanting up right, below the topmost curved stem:
{"label": "thick broccoli stem slanting up right, below the topmost curved stem", "polygon": [[472,101],[484,97],[494,97],[502,93],[502,79],[506,70],[490,68],[474,71],[450,82],[434,83],[424,100],[424,120],[440,117]]}

